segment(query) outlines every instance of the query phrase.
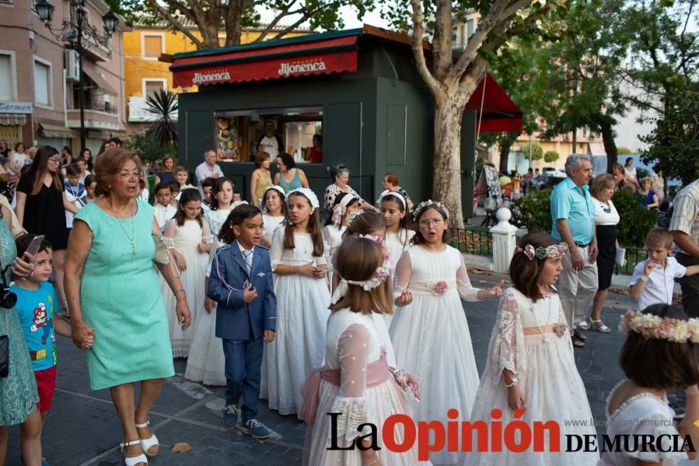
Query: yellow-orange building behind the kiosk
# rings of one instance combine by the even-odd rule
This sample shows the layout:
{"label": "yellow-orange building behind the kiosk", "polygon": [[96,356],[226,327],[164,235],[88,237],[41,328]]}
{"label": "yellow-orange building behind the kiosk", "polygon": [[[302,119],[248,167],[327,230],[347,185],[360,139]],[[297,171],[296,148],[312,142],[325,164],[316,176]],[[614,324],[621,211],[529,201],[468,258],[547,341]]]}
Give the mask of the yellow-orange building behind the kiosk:
{"label": "yellow-orange building behind the kiosk", "polygon": [[[201,38],[199,30],[194,22],[182,20],[192,34]],[[264,25],[257,29],[244,29],[240,36],[241,43],[250,43],[257,39],[264,30]],[[278,25],[268,34],[273,38],[277,31],[286,28]],[[298,28],[284,37],[302,36],[311,34],[310,29]],[[224,44],[225,31],[219,31],[219,43]],[[171,31],[166,22],[154,25],[135,25],[134,30],[124,33],[124,95],[127,96],[129,133],[140,132],[147,122],[152,120],[152,115],[147,112],[145,105],[146,96],[157,92],[158,89],[171,89],[174,92],[194,92],[196,87],[181,89],[172,87],[172,73],[169,71],[169,63],[159,61],[161,54],[175,54],[177,52],[190,52],[196,50],[196,46],[185,34],[180,31]],[[176,116],[175,116],[176,117]]]}

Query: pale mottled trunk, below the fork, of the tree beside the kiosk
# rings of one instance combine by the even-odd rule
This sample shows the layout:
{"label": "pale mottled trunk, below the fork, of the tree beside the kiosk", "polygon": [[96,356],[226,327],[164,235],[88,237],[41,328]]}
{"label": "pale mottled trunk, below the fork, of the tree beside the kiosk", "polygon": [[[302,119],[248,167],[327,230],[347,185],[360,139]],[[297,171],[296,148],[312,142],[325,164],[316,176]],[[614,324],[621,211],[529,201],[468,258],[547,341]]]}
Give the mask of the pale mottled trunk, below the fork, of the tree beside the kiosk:
{"label": "pale mottled trunk, below the fork, of the tree beside the kiosk", "polygon": [[462,99],[435,98],[435,156],[433,199],[449,210],[449,224],[463,228],[461,208],[461,117]]}

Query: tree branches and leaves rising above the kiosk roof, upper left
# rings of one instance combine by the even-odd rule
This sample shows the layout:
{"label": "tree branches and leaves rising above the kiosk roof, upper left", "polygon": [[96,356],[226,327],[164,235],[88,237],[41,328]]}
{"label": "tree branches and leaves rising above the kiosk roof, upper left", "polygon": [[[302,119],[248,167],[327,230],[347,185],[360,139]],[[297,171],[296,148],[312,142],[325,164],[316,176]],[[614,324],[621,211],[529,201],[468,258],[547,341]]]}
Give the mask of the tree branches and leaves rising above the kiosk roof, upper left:
{"label": "tree branches and leaves rising above the kiosk roof, upper left", "polygon": [[[219,30],[226,31],[225,44],[240,43],[243,27],[259,27],[262,7],[276,13],[255,40],[270,38],[282,20],[290,24],[273,38],[281,38],[308,22],[311,29],[342,29],[344,22],[339,9],[352,7],[359,17],[373,8],[374,0],[106,0],[108,5],[127,18],[129,24],[155,24],[166,20],[173,31],[185,34],[198,49],[219,47]],[[194,22],[201,38],[186,26]]]}

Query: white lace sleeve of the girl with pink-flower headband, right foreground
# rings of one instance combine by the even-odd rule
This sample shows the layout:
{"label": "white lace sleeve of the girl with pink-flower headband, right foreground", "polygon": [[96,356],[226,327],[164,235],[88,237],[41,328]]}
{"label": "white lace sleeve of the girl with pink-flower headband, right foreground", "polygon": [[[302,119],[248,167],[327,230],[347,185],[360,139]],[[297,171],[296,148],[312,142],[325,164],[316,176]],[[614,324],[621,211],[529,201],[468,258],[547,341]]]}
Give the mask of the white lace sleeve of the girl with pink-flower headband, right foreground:
{"label": "white lace sleeve of the girl with pink-flower headband, right foreground", "polygon": [[522,332],[517,298],[511,289],[503,292],[498,306],[498,317],[489,349],[493,383],[498,384],[503,370],[511,370],[519,377],[524,373],[524,332]]}

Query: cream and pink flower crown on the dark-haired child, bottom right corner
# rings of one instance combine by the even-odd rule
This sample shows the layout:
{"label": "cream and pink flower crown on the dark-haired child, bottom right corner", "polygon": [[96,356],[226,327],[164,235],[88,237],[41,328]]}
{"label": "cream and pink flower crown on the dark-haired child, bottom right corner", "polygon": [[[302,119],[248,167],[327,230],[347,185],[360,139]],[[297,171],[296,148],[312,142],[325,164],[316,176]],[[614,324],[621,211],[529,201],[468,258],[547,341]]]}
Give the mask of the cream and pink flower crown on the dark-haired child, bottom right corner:
{"label": "cream and pink flower crown on the dark-haired child, bottom right corner", "polygon": [[675,343],[699,343],[699,319],[683,321],[669,317],[626,311],[619,322],[621,333],[635,332],[646,340],[668,340]]}

